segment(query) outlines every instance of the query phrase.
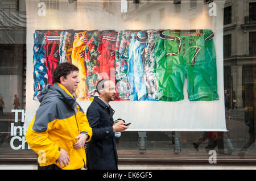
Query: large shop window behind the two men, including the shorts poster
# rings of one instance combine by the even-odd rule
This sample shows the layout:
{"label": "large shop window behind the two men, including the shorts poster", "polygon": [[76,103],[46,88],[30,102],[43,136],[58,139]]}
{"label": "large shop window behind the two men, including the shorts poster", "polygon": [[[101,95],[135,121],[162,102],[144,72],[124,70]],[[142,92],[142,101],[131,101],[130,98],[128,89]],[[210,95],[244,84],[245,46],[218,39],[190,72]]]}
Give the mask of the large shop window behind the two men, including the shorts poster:
{"label": "large shop window behind the two men, including the shorts poster", "polygon": [[[110,77],[117,87],[121,85],[118,82],[125,82],[118,92],[118,101],[110,103],[116,111],[115,118],[121,116],[131,122],[130,128],[117,138],[119,158],[160,160],[184,155],[188,161],[190,158],[207,161],[209,151],[216,150],[217,155],[225,156],[220,159],[255,159],[255,8],[254,1],[233,0],[0,1],[0,154],[35,155],[28,148],[24,134],[39,107],[40,91],[47,83],[51,84],[51,72],[62,61],[72,62],[86,72],[80,74],[84,81],[80,88],[86,87],[89,93],[80,91],[76,95],[86,112],[96,95],[95,86],[102,71],[100,66],[80,58],[86,53],[89,56],[91,51],[95,64],[102,60],[98,48],[103,44],[102,39],[87,52],[85,49],[92,37],[84,44],[81,42],[80,57],[72,56],[72,52],[76,51],[75,46],[79,47],[75,40],[80,40],[83,32],[98,30],[100,35],[115,33],[113,46],[120,44],[120,39],[125,42],[123,49],[108,49],[113,65],[105,68],[113,66]],[[126,38],[121,31],[130,34]],[[160,45],[153,42],[150,46],[153,31],[158,32],[158,40],[162,39],[158,41]],[[70,35],[62,44],[61,32]],[[145,33],[146,42],[139,44],[141,52],[129,52],[134,48],[136,37],[141,35],[139,32]],[[56,33],[58,40],[46,45],[48,33]],[[46,47],[54,49],[53,44],[56,50],[46,52]],[[147,54],[147,48],[158,55]],[[38,50],[40,54],[36,54]],[[57,58],[49,60],[47,53]],[[63,60],[61,53],[64,53]],[[143,61],[146,55],[151,58],[148,60],[155,61],[150,68],[148,62]],[[81,64],[77,64],[80,60]],[[118,65],[127,68],[124,77],[117,73]],[[193,71],[197,66],[203,68]],[[191,67],[192,74],[188,70]],[[131,73],[128,68],[138,68],[138,74],[127,75]],[[160,75],[154,74],[156,72]],[[147,77],[147,73],[152,73],[153,78]],[[203,75],[197,77],[197,74]],[[93,76],[98,77],[93,79]],[[159,81],[161,77],[167,78]],[[136,87],[131,81],[135,78],[146,80],[144,90],[146,98],[151,100],[138,98],[138,90],[142,90],[143,85]],[[201,83],[207,78],[211,80],[206,81],[210,86],[195,86],[197,81]],[[214,83],[214,80],[217,81]],[[170,96],[170,92],[178,92],[177,87],[181,96]],[[197,88],[209,90],[214,100],[209,100],[209,95],[196,101],[192,99],[191,92]]]}

